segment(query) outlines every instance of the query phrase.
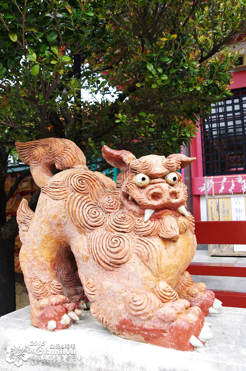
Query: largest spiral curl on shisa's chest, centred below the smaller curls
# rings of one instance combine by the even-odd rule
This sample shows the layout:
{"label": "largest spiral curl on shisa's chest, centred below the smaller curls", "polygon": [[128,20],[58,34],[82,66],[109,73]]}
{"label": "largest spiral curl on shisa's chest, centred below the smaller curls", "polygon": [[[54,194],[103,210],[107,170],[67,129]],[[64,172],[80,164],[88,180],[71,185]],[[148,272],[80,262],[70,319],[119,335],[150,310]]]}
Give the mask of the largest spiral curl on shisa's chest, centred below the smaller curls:
{"label": "largest spiral curl on shisa's chest, centred below the smaller curls", "polygon": [[106,270],[119,268],[132,256],[132,243],[125,234],[98,229],[91,234],[88,244],[97,265]]}

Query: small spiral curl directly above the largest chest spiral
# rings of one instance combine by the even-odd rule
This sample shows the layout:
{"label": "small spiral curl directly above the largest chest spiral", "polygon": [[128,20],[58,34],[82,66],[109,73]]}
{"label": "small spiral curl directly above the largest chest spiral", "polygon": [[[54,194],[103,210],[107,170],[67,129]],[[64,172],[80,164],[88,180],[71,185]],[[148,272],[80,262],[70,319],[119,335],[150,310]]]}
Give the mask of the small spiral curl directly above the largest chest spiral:
{"label": "small spiral curl directly above the largest chest spiral", "polygon": [[133,229],[133,217],[124,212],[111,213],[106,216],[105,227],[109,232],[129,233]]}

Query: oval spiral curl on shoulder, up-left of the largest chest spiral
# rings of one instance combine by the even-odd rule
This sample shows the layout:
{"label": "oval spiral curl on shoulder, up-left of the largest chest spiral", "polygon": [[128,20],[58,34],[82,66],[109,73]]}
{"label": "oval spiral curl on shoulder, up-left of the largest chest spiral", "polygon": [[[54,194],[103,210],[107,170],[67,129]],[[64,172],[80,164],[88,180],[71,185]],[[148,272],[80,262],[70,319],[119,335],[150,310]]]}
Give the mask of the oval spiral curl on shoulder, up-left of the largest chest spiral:
{"label": "oval spiral curl on shoulder, up-left of the largest chest spiral", "polygon": [[66,210],[72,223],[78,229],[94,230],[104,223],[104,213],[89,197],[69,194],[66,201]]}

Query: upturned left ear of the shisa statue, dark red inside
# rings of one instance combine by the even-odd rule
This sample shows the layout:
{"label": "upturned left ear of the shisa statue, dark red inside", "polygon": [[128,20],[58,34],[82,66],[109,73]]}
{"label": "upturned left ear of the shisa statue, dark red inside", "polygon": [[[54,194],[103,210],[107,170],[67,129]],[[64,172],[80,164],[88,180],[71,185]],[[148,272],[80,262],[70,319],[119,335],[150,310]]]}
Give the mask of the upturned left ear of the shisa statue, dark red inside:
{"label": "upturned left ear of the shisa statue, dark red inside", "polygon": [[129,151],[116,151],[104,145],[102,148],[102,154],[105,160],[120,170],[125,170],[131,161],[136,160],[136,157]]}

